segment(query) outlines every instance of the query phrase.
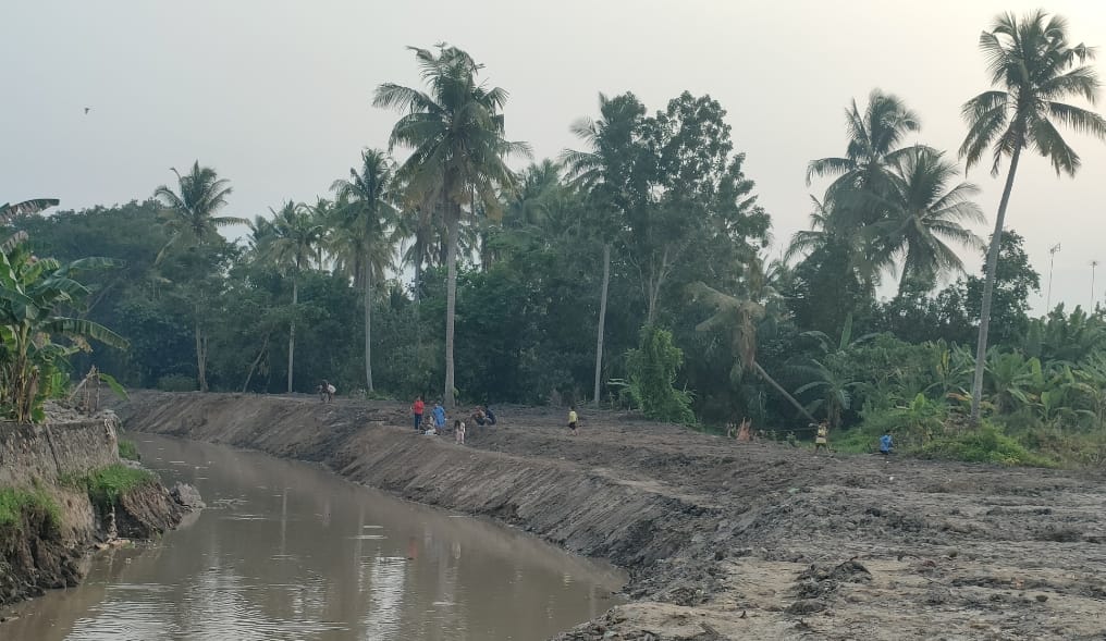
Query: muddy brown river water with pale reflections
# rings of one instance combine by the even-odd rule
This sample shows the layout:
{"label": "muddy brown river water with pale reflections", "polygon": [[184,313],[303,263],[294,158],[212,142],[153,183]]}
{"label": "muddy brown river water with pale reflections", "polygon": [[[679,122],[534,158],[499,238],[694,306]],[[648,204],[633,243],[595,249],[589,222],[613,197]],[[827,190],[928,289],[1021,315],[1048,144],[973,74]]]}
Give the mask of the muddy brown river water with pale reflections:
{"label": "muddy brown river water with pale reflections", "polygon": [[138,439],[208,507],[160,542],[97,553],[80,587],[18,607],[0,640],[532,640],[618,602],[620,572],[508,528],[304,463]]}

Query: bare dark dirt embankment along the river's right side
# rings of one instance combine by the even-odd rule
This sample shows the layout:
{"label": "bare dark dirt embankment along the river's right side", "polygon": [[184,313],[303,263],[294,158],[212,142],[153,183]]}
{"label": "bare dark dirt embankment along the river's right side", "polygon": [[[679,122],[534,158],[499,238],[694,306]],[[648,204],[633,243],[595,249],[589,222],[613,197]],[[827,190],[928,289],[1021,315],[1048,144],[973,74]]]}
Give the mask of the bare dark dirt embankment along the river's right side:
{"label": "bare dark dirt embankment along the river's right side", "polygon": [[317,461],[629,570],[561,639],[1100,639],[1106,488],[1068,472],[737,444],[614,413],[498,408],[468,445],[406,407],[139,393],[128,429]]}

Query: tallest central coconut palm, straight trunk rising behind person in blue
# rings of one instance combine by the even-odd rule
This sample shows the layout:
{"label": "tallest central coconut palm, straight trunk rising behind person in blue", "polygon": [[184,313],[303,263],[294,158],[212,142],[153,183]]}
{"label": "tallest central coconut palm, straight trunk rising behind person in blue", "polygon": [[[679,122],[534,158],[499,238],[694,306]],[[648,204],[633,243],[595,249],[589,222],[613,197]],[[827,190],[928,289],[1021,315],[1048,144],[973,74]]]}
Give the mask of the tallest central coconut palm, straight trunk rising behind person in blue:
{"label": "tallest central coconut palm, straight trunk rising behind person in blue", "polygon": [[480,202],[500,208],[498,190],[514,183],[505,158],[529,155],[525,144],[508,141],[502,108],[507,92],[487,87],[477,76],[483,65],[463,51],[438,45],[438,52],[409,48],[429,88],[424,92],[393,83],[376,90],[373,104],[403,116],[392,128],[389,147],[408,147],[411,155],[398,174],[422,202],[440,202],[448,232],[446,265],[446,404],[453,402],[453,324],[457,312],[457,250],[466,207]]}

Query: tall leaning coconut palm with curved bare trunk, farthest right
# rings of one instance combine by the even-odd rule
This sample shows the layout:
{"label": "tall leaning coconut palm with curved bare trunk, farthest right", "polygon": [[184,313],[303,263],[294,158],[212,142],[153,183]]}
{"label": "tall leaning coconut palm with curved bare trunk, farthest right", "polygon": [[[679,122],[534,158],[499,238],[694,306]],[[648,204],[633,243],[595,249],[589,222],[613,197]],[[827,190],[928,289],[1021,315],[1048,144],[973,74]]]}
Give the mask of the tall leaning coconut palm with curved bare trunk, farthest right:
{"label": "tall leaning coconut palm with curved bare trunk, farthest right", "polygon": [[1083,43],[1068,42],[1067,21],[1063,18],[1050,17],[1044,11],[1025,15],[1020,21],[1012,13],[999,15],[991,30],[979,36],[979,46],[988,59],[991,84],[1001,88],[983,92],[964,103],[962,115],[968,124],[968,135],[960,146],[960,156],[970,169],[990,149],[993,158],[991,176],[999,175],[1003,157],[1010,158],[1010,168],[987,254],[987,279],[980,307],[979,343],[975,346],[975,378],[972,381],[972,423],[979,421],[999,248],[1022,149],[1033,149],[1047,158],[1057,176],[1074,176],[1079,169],[1079,156],[1061,136],[1056,124],[1099,139],[1106,137],[1106,120],[1102,116],[1057,102],[1082,96],[1094,105],[1099,88],[1098,74],[1093,67],[1084,65],[1094,60],[1094,50]]}

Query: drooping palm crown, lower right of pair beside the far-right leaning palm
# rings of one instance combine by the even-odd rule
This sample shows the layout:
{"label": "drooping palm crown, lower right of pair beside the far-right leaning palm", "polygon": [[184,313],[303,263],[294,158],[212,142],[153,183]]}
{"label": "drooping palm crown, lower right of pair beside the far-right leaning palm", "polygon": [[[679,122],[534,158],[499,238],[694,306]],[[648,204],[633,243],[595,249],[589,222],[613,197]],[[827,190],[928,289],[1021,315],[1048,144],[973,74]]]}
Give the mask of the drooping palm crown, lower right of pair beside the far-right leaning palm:
{"label": "drooping palm crown, lower right of pair beside the far-right leaning palm", "polygon": [[959,174],[943,153],[911,147],[894,160],[885,192],[870,196],[873,208],[881,212],[869,228],[879,248],[875,262],[901,263],[899,293],[908,282],[931,288],[942,274],[962,272],[963,262],[949,243],[983,249],[983,241],[961,224],[985,220],[971,201],[979,188],[970,182],[950,187]]}

